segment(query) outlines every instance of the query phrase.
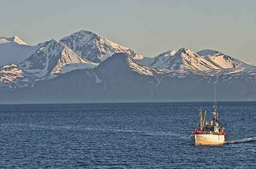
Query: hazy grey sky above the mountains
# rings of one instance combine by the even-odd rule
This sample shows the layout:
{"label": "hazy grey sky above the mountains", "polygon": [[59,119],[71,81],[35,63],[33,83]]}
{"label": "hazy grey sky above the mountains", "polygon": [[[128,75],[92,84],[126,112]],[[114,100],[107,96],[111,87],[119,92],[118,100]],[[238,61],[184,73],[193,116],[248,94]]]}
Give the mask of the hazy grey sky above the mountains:
{"label": "hazy grey sky above the mountains", "polygon": [[0,37],[35,45],[80,30],[147,57],[216,49],[256,65],[256,1],[1,1]]}

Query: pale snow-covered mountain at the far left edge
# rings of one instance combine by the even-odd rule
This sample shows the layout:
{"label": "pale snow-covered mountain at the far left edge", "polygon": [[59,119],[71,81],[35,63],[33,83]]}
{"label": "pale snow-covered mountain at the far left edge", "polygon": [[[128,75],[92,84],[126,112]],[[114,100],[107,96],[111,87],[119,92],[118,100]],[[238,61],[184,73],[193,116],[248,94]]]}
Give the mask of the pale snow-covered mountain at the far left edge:
{"label": "pale snow-covered mountain at the far left edge", "polygon": [[39,45],[30,46],[23,40],[14,36],[12,38],[0,38],[0,66],[18,64],[35,52]]}

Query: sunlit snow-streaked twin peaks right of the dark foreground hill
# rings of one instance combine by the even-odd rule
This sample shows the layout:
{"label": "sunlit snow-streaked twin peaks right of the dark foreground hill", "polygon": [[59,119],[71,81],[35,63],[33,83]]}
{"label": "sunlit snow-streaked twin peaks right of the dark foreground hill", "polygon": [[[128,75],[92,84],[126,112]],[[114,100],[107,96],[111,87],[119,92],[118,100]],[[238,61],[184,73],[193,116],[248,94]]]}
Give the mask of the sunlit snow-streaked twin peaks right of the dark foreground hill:
{"label": "sunlit snow-streaked twin peaks right of the dark foreground hill", "polygon": [[[199,55],[200,54],[200,55]],[[215,50],[191,51],[181,48],[177,52],[167,51],[155,58],[153,68],[168,70],[217,70],[229,68],[250,68],[253,65],[229,57]]]}

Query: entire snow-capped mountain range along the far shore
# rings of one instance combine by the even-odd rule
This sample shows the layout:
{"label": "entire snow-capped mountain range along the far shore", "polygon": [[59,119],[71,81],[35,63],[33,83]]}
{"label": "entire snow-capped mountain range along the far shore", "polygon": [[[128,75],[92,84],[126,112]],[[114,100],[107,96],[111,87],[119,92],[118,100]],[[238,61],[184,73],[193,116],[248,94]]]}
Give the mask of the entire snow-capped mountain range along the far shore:
{"label": "entire snow-capped mountain range along the far shore", "polygon": [[255,100],[256,67],[216,50],[155,58],[89,32],[30,46],[0,38],[0,102]]}

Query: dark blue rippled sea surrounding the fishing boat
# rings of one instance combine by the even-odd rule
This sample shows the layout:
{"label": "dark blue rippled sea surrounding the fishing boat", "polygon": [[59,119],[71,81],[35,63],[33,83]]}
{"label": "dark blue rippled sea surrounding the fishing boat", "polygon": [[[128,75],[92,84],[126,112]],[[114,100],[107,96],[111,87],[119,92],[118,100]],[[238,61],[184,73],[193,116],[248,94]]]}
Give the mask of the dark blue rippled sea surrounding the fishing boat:
{"label": "dark blue rippled sea surrounding the fishing boat", "polygon": [[0,105],[0,168],[256,168],[256,102],[218,104],[222,146],[191,144],[210,102]]}

